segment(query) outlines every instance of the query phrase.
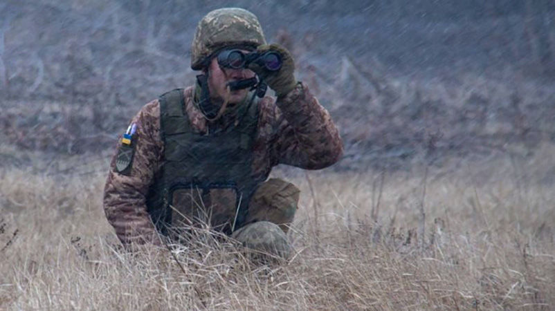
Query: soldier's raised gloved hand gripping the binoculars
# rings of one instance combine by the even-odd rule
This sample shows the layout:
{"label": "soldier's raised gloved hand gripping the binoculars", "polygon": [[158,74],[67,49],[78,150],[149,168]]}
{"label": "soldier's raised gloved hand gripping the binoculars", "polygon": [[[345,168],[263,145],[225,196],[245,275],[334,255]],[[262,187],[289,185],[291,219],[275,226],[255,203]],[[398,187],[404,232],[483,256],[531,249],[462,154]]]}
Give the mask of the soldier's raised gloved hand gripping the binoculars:
{"label": "soldier's raised gloved hand gripping the binoculars", "polygon": [[295,79],[295,75],[293,75],[293,72],[295,71],[295,63],[293,62],[293,57],[291,56],[291,53],[289,53],[289,50],[279,44],[264,44],[262,46],[258,46],[256,49],[256,51],[261,54],[269,50],[273,50],[281,55],[282,68],[280,68],[280,70],[267,70],[266,68],[255,64],[255,62],[248,64],[248,68],[264,79],[268,86],[275,91],[275,95],[277,95],[277,97],[284,96],[291,92],[297,85],[297,80]]}

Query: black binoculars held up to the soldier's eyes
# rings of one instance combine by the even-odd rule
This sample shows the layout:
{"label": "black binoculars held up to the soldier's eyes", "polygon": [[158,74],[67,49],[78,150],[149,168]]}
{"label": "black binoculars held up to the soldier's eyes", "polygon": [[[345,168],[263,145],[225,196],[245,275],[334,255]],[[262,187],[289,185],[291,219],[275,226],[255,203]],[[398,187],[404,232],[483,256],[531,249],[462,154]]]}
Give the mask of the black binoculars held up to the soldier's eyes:
{"label": "black binoculars held up to the soldier's eyes", "polygon": [[277,71],[282,68],[282,57],[273,51],[244,53],[242,50],[231,49],[218,53],[218,64],[224,68],[242,69],[251,63],[269,71]]}

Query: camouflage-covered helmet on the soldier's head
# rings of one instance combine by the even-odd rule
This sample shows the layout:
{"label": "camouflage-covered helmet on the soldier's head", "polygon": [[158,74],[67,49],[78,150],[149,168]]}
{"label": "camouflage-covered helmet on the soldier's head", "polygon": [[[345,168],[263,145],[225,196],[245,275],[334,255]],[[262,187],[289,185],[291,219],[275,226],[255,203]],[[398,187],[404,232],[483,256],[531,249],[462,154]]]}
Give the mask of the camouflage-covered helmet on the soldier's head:
{"label": "camouflage-covered helmet on the soldier's head", "polygon": [[257,17],[242,8],[209,12],[197,26],[191,46],[191,68],[201,70],[203,61],[224,46],[253,47],[266,44]]}

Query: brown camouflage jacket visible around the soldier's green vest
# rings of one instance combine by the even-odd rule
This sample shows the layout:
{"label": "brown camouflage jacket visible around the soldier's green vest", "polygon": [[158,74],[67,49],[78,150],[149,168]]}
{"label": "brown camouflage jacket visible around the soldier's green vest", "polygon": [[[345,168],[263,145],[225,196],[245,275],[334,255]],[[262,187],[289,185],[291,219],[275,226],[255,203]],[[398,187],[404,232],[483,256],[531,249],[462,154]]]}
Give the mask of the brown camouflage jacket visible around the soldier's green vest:
{"label": "brown camouflage jacket visible around the soldier's green vest", "polygon": [[[226,114],[215,123],[208,122],[193,104],[193,87],[184,93],[185,110],[194,131],[206,133],[234,122],[234,116]],[[114,155],[104,187],[104,212],[124,245],[158,244],[145,202],[149,186],[164,163],[158,100],[143,106],[131,122],[136,124],[131,171],[128,175],[118,173]],[[260,100],[256,135],[252,164],[255,177],[267,175],[277,164],[322,169],[343,154],[338,129],[305,84],[298,84],[277,102],[269,96]]]}

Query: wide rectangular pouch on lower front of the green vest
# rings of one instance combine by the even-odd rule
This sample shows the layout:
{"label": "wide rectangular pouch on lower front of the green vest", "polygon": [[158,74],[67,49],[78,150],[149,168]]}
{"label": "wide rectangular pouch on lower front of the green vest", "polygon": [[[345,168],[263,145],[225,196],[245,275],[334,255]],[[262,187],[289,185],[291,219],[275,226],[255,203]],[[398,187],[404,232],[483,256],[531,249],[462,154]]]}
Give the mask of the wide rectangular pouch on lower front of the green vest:
{"label": "wide rectangular pouch on lower front of the green vest", "polygon": [[206,227],[230,233],[241,196],[234,187],[181,188],[172,193],[172,227]]}

